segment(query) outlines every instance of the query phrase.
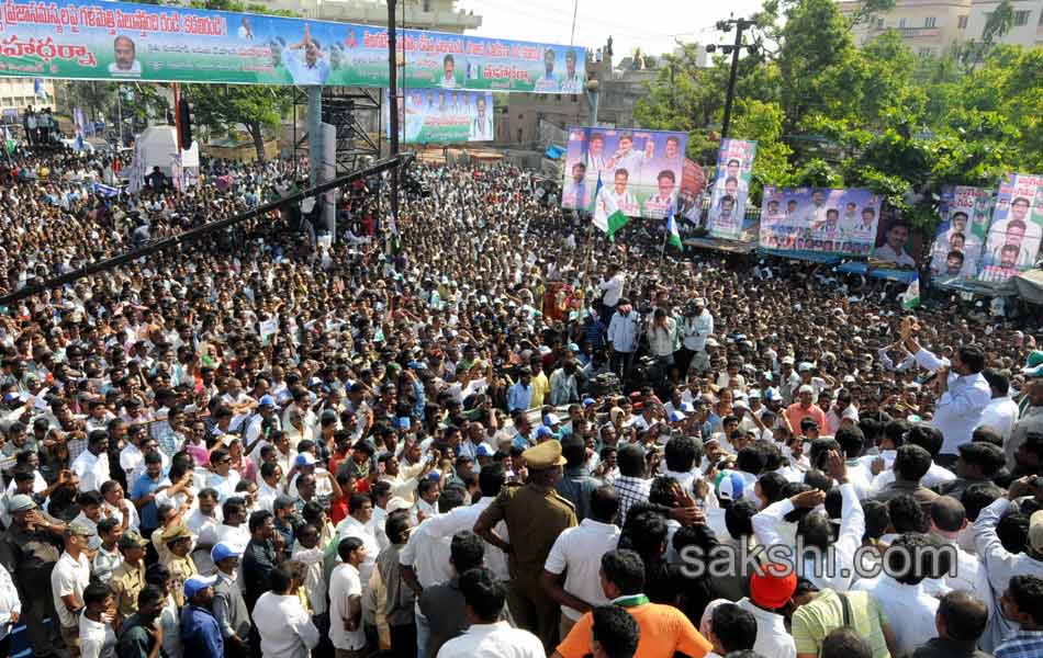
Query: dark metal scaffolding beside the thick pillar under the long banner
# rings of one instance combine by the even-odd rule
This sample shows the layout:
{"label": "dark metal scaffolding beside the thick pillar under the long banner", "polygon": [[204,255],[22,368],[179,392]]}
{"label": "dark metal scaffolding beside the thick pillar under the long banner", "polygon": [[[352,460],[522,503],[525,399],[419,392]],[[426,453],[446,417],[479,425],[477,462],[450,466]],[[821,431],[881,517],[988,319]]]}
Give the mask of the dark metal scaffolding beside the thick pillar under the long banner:
{"label": "dark metal scaffolding beside the thick pillar under the long banner", "polygon": [[[307,131],[298,134],[298,106],[305,107],[301,115],[306,115],[307,88],[293,87],[293,156],[294,162],[300,156],[307,154]],[[366,131],[363,117],[375,117],[372,125],[377,126],[378,135],[381,122],[382,94],[379,90],[358,87],[325,87],[323,88],[323,123],[334,126],[337,131],[336,162],[337,175],[343,175],[365,167],[368,162],[380,158],[380,139],[373,140]]]}

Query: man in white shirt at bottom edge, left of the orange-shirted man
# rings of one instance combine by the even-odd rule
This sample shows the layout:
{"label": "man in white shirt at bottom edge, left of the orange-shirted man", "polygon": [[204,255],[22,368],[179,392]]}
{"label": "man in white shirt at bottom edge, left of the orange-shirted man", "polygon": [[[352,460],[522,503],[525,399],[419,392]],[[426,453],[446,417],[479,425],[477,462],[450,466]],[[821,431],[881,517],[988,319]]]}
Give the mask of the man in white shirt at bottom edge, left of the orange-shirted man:
{"label": "man in white shirt at bottom edge, left of the orange-shirted man", "polygon": [[538,637],[496,621],[507,599],[507,587],[492,571],[471,569],[460,576],[459,582],[471,627],[444,644],[437,658],[546,658]]}

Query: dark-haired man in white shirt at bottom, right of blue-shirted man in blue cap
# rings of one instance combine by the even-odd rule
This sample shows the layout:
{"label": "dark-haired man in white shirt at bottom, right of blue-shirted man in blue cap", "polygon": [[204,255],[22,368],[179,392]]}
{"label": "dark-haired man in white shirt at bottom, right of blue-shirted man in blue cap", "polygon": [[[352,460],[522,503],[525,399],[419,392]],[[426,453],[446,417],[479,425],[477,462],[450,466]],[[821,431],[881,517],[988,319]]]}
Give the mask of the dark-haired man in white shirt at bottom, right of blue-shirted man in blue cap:
{"label": "dark-haired man in white shirt at bottom, right of blue-shirted man in blue cap", "polygon": [[271,591],[254,605],[254,627],[260,635],[263,658],[310,658],[321,636],[296,595],[301,585],[284,566],[269,575]]}

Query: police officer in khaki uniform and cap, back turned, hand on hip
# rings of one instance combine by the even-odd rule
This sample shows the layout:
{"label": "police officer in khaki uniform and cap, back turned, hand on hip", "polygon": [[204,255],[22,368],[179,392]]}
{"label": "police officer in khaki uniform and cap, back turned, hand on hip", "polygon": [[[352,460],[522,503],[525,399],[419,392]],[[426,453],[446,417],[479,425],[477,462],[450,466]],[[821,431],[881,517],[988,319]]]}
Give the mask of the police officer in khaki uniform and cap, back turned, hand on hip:
{"label": "police officer in khaki uniform and cap, back turned, hand on hip", "polygon": [[[557,646],[561,608],[540,586],[540,576],[558,535],[576,524],[575,508],[554,490],[565,463],[561,443],[546,441],[522,457],[529,470],[528,481],[507,485],[479,517],[474,532],[511,556],[511,614],[520,627],[539,636],[550,655]],[[508,544],[496,534],[493,529],[501,521],[517,543]]]}

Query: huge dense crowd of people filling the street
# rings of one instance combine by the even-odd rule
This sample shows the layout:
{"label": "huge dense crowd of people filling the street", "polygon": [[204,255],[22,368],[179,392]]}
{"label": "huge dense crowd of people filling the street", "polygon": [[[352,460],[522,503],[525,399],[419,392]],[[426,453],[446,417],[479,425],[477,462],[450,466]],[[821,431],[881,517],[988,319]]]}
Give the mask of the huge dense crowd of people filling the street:
{"label": "huge dense crowd of people filling the street", "polygon": [[[18,151],[0,294],[294,164]],[[1039,316],[408,175],[0,309],[0,655],[1043,656]]]}

